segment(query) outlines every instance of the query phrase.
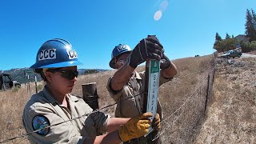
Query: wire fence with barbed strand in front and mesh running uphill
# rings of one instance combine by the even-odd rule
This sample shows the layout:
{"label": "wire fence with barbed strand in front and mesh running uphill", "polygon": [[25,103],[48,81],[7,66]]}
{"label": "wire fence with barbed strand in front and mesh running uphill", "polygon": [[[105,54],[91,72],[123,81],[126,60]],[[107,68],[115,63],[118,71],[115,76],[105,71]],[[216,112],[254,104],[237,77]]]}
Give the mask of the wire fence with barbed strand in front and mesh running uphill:
{"label": "wire fence with barbed strand in front and mesh running uphill", "polygon": [[[202,81],[198,82],[199,85],[190,93],[186,94],[184,97],[185,101],[181,106],[178,107],[169,115],[166,115],[165,118],[162,119],[162,130],[158,133],[155,138],[161,137],[162,143],[193,143],[196,134],[198,134],[198,130],[200,130],[200,126],[202,126],[202,122],[205,118],[206,107],[211,102],[214,92],[214,74],[215,74],[215,57],[211,60],[211,66],[206,75],[202,75]],[[140,95],[140,94],[138,94]],[[134,97],[138,96],[135,95]],[[127,99],[127,98],[126,98]],[[126,100],[123,99],[123,100]],[[104,106],[98,110],[92,111],[90,114],[97,112],[99,110],[104,110],[110,106],[114,106],[117,103],[113,103],[109,106]],[[78,117],[85,117],[89,114],[83,114]],[[69,121],[73,121],[73,118]],[[56,123],[48,127],[58,126],[63,122]],[[27,137],[29,134],[33,134],[38,132],[39,130],[34,130],[26,134],[21,134],[18,136],[14,136],[13,138],[7,138],[2,140],[0,143],[11,142],[16,138]],[[154,138],[154,139],[155,139]],[[154,139],[152,141],[154,141]]]}

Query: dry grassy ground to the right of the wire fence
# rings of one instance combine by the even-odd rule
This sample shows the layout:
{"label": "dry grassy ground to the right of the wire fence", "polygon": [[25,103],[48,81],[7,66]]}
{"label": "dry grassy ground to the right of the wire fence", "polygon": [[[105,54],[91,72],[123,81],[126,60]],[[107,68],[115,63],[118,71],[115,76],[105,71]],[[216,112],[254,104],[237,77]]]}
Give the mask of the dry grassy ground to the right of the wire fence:
{"label": "dry grassy ground to the right of the wire fence", "polygon": [[214,101],[195,143],[256,142],[255,60],[219,60]]}

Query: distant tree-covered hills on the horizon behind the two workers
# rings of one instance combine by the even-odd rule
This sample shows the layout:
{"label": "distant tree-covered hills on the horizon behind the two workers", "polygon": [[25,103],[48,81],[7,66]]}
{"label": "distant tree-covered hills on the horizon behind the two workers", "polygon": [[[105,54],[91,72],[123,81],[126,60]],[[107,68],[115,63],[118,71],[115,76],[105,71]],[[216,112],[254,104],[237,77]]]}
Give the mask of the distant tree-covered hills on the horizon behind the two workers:
{"label": "distant tree-covered hills on the horizon behind the two workers", "polygon": [[[87,71],[94,71],[94,72],[103,72],[106,70],[103,69],[78,69],[79,74],[85,74]],[[10,74],[13,80],[18,81],[20,83],[25,82],[34,82],[35,76],[37,77],[38,81],[41,81],[40,74],[34,73],[34,71],[30,68],[20,68],[20,69],[11,69],[11,70],[0,70],[2,73]]]}

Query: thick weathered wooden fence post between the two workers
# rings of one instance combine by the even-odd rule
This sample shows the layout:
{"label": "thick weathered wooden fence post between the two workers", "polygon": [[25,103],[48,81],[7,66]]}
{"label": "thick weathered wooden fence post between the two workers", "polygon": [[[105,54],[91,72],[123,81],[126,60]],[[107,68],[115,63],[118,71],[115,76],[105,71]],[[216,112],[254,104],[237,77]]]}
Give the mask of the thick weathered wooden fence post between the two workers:
{"label": "thick weathered wooden fence post between the two workers", "polygon": [[82,98],[93,109],[98,109],[96,82],[82,84]]}

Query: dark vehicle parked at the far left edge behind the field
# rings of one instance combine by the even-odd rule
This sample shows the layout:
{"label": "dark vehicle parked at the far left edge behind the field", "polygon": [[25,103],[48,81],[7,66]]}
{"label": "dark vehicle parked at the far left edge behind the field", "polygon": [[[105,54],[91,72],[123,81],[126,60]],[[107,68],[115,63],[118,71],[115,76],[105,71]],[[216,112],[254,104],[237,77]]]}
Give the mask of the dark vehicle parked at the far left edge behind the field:
{"label": "dark vehicle parked at the far left edge behind the field", "polygon": [[0,90],[8,90],[14,86],[19,88],[21,84],[18,81],[12,80],[10,74],[0,73]]}

